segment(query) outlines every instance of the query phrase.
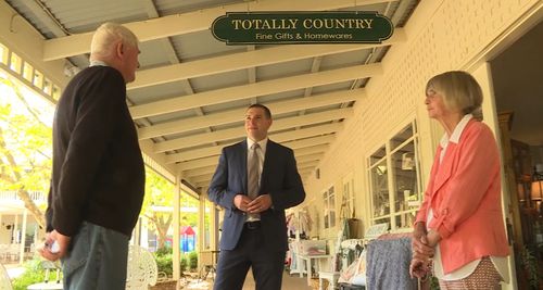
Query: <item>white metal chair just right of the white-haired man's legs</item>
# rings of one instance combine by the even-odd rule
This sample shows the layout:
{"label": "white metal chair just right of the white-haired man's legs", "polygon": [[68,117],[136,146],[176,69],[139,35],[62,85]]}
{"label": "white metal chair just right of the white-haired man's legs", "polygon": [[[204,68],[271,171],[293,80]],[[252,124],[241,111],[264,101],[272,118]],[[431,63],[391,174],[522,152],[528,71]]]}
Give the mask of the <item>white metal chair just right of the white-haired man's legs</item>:
{"label": "white metal chair just right of the white-haired man's legs", "polygon": [[153,254],[139,245],[128,249],[126,289],[144,289],[154,286],[159,279],[159,268]]}

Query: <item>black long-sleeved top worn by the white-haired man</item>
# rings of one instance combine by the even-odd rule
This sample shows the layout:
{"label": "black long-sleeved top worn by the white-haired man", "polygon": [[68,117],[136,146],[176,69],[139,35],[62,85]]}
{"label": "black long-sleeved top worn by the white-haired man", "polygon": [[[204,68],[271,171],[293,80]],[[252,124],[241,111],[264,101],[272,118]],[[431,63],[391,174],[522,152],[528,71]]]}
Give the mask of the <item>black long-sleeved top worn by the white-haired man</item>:
{"label": "black long-sleeved top worn by the white-haired man", "polygon": [[130,236],[143,191],[143,160],[123,76],[109,66],[85,68],[56,106],[48,231],[74,236],[86,220]]}

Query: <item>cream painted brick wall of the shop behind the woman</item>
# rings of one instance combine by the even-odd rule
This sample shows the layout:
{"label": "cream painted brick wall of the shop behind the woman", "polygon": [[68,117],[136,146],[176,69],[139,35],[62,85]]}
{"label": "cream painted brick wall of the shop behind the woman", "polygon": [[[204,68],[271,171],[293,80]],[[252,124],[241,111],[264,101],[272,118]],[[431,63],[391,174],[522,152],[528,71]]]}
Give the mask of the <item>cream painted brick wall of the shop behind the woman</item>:
{"label": "cream painted brick wall of the shop behind the woman", "polygon": [[356,215],[367,228],[369,197],[366,157],[411,119],[420,134],[424,184],[441,137],[424,109],[424,88],[429,77],[449,70],[466,70],[482,51],[527,11],[540,7],[538,0],[422,0],[405,26],[408,41],[389,50],[382,61],[384,74],[366,87],[368,97],[355,104],[330,151],[319,164],[320,178],[313,175],[305,185],[304,205],[319,229],[312,236],[334,240],[337,229],[323,229],[321,192],[336,186],[340,211],[342,179],[354,174]]}

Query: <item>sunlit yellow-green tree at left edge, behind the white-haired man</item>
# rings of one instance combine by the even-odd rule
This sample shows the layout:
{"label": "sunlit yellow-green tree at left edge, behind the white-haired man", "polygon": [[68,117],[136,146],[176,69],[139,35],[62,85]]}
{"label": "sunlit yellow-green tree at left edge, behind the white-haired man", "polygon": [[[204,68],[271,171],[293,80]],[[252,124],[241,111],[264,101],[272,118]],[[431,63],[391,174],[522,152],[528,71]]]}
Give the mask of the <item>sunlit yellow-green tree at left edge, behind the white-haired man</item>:
{"label": "sunlit yellow-green tree at left edge, behind the white-haired man", "polygon": [[3,99],[0,102],[0,190],[16,191],[25,207],[45,227],[43,209],[38,209],[29,192],[49,190],[51,127],[40,121],[42,114],[29,105],[13,81],[0,76],[0,86],[1,91],[9,94],[0,96]]}

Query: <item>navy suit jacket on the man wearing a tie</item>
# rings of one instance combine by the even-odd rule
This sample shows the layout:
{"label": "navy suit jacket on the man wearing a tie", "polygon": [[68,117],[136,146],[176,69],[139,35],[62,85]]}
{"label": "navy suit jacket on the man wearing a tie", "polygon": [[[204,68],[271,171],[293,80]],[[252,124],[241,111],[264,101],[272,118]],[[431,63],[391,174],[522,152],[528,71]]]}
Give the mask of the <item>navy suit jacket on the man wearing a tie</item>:
{"label": "navy suit jacket on the man wearing a tie", "polygon": [[[247,219],[245,213],[233,205],[233,198],[247,194],[247,140],[225,147],[218,160],[207,194],[211,201],[225,209],[222,250],[232,250]],[[290,148],[268,140],[261,175],[258,194],[270,194],[273,205],[261,213],[263,247],[269,251],[287,251],[285,210],[302,203],[305,190]]]}

